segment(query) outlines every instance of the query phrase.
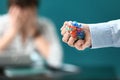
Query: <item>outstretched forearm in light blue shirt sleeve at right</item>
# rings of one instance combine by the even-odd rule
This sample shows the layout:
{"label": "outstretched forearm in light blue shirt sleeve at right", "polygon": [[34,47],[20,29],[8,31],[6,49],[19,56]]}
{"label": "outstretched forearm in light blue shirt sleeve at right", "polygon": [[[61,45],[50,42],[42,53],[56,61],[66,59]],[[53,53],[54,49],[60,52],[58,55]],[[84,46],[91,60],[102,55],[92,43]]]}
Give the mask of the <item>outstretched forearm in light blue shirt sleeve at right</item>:
{"label": "outstretched forearm in light blue shirt sleeve at right", "polygon": [[118,34],[120,32],[118,22],[120,21],[115,20],[106,23],[89,24],[92,48],[116,47],[116,41],[120,38]]}

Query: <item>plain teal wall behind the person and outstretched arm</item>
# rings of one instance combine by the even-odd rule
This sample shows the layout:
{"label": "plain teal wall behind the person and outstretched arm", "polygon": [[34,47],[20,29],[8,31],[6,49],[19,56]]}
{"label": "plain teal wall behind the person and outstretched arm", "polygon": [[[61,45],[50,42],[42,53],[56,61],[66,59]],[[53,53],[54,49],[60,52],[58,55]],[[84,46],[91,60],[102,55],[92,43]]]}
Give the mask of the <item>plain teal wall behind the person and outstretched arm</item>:
{"label": "plain teal wall behind the person and outstretched arm", "polygon": [[[6,2],[0,2],[1,15],[7,13]],[[42,0],[39,15],[55,23],[64,49],[64,62],[78,65],[83,72],[82,77],[108,76],[120,79],[120,48],[78,51],[64,44],[60,35],[60,28],[66,20],[100,23],[120,19],[119,8],[120,0]]]}

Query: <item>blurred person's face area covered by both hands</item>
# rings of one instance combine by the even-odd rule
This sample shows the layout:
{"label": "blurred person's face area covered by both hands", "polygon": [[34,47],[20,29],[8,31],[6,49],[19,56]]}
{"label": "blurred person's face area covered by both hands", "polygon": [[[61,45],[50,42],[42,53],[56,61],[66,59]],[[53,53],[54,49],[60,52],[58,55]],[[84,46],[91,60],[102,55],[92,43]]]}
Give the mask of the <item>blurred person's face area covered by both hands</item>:
{"label": "blurred person's face area covered by both hands", "polygon": [[21,9],[19,7],[11,7],[9,10],[10,23],[18,31],[32,35],[36,30],[37,15],[31,8]]}

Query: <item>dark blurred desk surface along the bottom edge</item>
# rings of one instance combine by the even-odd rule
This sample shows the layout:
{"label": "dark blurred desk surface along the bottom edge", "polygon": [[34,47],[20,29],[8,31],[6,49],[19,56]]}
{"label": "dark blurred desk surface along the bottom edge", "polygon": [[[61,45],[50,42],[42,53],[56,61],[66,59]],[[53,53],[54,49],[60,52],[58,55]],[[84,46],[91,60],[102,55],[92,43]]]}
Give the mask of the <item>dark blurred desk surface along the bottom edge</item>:
{"label": "dark blurred desk surface along the bottom edge", "polygon": [[59,78],[47,77],[45,74],[29,76],[24,78],[7,78],[1,76],[0,80],[117,80],[114,67],[81,67],[77,74],[64,75]]}

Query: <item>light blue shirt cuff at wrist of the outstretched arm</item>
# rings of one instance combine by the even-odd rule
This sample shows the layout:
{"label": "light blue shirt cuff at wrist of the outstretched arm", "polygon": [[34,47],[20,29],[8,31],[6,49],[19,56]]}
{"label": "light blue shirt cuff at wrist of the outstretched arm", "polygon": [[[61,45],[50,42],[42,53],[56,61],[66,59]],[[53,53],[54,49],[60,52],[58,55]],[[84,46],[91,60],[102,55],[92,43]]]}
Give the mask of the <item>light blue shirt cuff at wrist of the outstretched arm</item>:
{"label": "light blue shirt cuff at wrist of the outstretched arm", "polygon": [[107,23],[89,24],[92,45],[91,48],[112,47],[112,26]]}

